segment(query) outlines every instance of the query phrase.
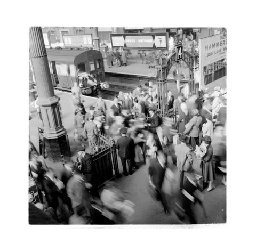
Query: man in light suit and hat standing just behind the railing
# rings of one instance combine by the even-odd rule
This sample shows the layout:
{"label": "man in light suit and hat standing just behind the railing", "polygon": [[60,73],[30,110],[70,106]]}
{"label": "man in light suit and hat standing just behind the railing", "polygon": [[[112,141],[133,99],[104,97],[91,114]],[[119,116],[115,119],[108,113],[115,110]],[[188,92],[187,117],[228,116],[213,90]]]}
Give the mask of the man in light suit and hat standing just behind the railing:
{"label": "man in light suit and hat standing just behind the railing", "polygon": [[97,150],[97,141],[99,136],[97,124],[94,124],[93,120],[94,116],[91,115],[89,117],[89,121],[86,121],[84,124],[84,132],[89,142],[90,153],[93,153],[95,149]]}

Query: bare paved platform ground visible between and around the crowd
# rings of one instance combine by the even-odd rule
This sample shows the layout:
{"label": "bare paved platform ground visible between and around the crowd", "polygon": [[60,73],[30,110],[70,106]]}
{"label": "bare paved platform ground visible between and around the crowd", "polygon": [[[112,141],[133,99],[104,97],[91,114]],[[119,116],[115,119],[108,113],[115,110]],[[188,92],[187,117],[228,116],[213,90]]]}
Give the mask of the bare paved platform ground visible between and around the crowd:
{"label": "bare paved platform ground visible between and around the crowd", "polygon": [[[73,140],[74,132],[74,117],[73,117],[73,107],[71,105],[71,94],[65,92],[55,92],[56,95],[60,97],[60,105],[62,108],[62,124],[67,129],[69,136],[69,143],[71,148],[71,153],[74,159],[76,155],[77,143]],[[89,107],[91,104],[96,102],[95,98],[85,96],[84,98],[85,107]],[[107,101],[107,105],[110,102]],[[30,112],[32,119],[29,121],[30,128],[30,140],[38,147],[38,126],[40,125],[37,119],[37,113],[33,107],[30,107]],[[61,163],[53,163],[46,159],[49,166],[55,169],[58,174],[62,169]],[[119,162],[119,169],[122,172],[122,166]],[[195,160],[194,168],[197,169],[198,173],[201,173],[198,166],[198,160]],[[163,208],[158,201],[153,200],[148,193],[148,175],[147,175],[148,165],[140,167],[133,175],[127,177],[121,177],[116,180],[119,188],[125,191],[127,199],[131,200],[135,204],[135,214],[133,215],[130,223],[131,224],[182,224],[175,214],[172,212],[170,216],[166,216],[163,212]],[[177,168],[173,169],[175,175],[177,176]],[[202,215],[202,211],[198,206],[195,206],[195,210],[198,216],[199,223],[224,223],[226,222],[226,186],[221,184],[221,176],[217,175],[217,180],[215,181],[215,188],[211,192],[205,193],[205,208],[209,215],[209,218],[205,220]]]}

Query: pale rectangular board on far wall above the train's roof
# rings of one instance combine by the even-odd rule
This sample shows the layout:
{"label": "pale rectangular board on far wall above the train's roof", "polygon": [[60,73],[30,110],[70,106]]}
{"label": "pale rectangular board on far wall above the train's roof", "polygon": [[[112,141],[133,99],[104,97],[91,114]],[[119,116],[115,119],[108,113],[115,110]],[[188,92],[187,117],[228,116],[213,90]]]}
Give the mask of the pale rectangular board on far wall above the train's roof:
{"label": "pale rectangular board on far wall above the train's roof", "polygon": [[91,34],[63,35],[65,47],[93,47]]}

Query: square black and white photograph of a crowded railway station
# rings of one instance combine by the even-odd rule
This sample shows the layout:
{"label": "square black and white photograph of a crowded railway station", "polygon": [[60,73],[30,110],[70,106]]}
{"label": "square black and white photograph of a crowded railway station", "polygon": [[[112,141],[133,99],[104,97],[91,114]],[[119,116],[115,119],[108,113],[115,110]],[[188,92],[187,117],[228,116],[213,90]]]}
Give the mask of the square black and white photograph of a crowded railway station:
{"label": "square black and white photograph of a crowded railway station", "polygon": [[227,34],[30,27],[29,224],[226,223]]}

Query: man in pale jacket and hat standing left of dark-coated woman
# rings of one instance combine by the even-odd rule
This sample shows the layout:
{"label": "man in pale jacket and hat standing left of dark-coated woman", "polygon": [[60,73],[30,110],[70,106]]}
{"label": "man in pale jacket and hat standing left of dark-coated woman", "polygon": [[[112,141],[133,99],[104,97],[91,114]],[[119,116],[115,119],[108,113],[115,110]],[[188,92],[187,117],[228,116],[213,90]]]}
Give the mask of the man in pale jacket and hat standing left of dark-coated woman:
{"label": "man in pale jacket and hat standing left of dark-coated woman", "polygon": [[181,144],[175,145],[175,154],[177,156],[177,167],[180,172],[180,190],[182,190],[184,173],[189,170],[188,165],[193,164],[193,157],[190,148],[186,145],[187,136],[180,134],[179,140]]}

